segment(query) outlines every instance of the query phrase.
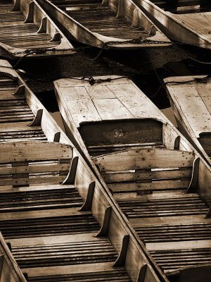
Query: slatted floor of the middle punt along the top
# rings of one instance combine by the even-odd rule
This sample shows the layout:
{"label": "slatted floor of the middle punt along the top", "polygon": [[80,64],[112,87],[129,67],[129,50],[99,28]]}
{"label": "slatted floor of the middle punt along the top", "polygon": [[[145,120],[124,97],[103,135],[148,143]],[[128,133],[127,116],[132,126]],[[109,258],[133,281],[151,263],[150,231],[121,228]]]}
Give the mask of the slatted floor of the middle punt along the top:
{"label": "slatted floor of the middle punt along the top", "polygon": [[145,30],[132,27],[124,18],[116,18],[117,13],[111,8],[101,6],[101,1],[52,0],[51,2],[91,32],[122,39],[148,37],[148,32]]}

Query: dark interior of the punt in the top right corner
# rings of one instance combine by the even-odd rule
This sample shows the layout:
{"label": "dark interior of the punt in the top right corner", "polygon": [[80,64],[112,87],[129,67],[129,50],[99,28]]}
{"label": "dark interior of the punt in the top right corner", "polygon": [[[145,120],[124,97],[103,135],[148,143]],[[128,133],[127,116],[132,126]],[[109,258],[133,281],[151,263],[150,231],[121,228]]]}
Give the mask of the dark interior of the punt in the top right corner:
{"label": "dark interior of the punt in the top right corner", "polygon": [[151,2],[171,13],[200,13],[211,11],[210,0],[151,0]]}

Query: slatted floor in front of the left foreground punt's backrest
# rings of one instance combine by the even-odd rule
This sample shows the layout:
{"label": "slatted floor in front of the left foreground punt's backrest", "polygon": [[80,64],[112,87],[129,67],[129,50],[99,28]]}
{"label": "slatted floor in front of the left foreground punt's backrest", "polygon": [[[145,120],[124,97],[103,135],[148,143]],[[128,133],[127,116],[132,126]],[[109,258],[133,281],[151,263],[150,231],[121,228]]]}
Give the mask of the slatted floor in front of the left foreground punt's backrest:
{"label": "slatted floor in front of the left foreground punt's backrest", "polygon": [[94,236],[100,226],[91,212],[79,212],[74,186],[11,190],[1,186],[1,233],[30,281],[130,281],[123,267],[112,269],[117,253],[108,238]]}

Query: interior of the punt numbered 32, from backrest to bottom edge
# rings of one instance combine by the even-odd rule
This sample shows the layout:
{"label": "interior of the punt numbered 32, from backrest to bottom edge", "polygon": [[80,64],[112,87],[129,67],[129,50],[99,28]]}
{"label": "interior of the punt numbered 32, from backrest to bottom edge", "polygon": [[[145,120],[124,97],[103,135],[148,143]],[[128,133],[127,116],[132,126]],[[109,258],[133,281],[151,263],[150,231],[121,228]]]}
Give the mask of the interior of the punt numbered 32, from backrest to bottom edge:
{"label": "interior of the punt numbered 32, from backrest to bottom edge", "polygon": [[[94,157],[122,212],[170,281],[210,273],[210,168],[193,152],[128,149]],[[187,272],[187,273],[186,273]],[[186,276],[187,275],[187,276]],[[196,280],[194,280],[196,279]]]}

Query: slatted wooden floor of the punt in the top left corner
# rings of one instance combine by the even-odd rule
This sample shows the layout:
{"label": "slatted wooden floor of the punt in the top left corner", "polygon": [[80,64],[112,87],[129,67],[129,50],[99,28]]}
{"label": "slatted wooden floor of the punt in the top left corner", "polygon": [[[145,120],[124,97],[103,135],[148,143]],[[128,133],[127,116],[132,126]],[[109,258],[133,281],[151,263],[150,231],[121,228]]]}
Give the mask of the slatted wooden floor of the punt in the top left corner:
{"label": "slatted wooden floor of the punt in the top left corner", "polygon": [[37,33],[39,27],[34,23],[24,23],[25,17],[20,11],[12,11],[11,0],[0,4],[0,38],[1,42],[17,48],[35,49],[56,47],[60,42],[51,41],[46,33]]}

